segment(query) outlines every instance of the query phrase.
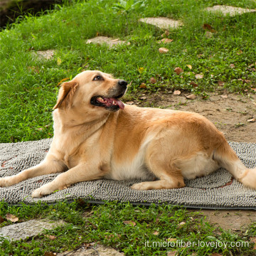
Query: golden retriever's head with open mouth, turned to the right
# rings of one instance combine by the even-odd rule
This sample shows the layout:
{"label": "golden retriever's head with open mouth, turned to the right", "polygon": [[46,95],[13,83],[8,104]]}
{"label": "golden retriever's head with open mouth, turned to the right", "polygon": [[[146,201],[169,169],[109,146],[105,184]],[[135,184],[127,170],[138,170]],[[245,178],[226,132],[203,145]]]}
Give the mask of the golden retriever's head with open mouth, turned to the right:
{"label": "golden retriever's head with open mouth, turned to the right", "polygon": [[84,71],[70,82],[63,82],[53,109],[86,107],[117,111],[124,109],[120,97],[127,91],[127,82],[96,70]]}

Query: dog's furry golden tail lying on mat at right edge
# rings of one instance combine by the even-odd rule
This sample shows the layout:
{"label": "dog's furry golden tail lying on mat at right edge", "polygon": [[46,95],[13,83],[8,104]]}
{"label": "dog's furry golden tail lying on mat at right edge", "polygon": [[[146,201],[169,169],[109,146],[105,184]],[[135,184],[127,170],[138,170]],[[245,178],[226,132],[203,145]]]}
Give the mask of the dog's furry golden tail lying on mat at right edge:
{"label": "dog's furry golden tail lying on mat at right edge", "polygon": [[215,149],[213,159],[218,161],[221,167],[227,169],[242,184],[256,189],[256,168],[246,168],[227,141],[223,141],[218,149]]}

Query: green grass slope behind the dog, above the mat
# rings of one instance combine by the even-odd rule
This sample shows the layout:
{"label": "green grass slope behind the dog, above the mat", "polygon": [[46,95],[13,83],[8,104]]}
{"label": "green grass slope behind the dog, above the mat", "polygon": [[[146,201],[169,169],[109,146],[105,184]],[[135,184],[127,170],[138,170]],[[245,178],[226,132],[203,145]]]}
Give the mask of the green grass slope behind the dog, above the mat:
{"label": "green grass slope behind the dog, above the mat", "polygon": [[[215,4],[255,8],[254,1],[144,0],[123,7],[117,3],[98,0],[56,6],[43,16],[23,16],[19,18],[23,19],[21,23],[1,31],[0,142],[52,137],[53,128],[46,125],[52,122],[58,82],[73,78],[83,69],[132,80],[129,98],[144,92],[139,85],[149,84],[151,77],[157,82],[148,86],[149,93],[174,89],[198,95],[217,89],[255,93],[251,90],[255,87],[255,72],[248,69],[256,59],[255,13],[223,17],[203,11]],[[138,19],[145,16],[181,19],[184,26],[170,31],[172,43],[159,45],[164,31],[139,23]],[[213,38],[206,38],[204,23],[217,31]],[[121,38],[130,45],[110,49],[85,43],[97,34]],[[159,53],[163,46],[169,48],[169,53]],[[31,50],[48,49],[56,51],[53,60],[39,60],[31,54]],[[192,70],[186,65],[192,65]],[[176,67],[183,68],[184,73],[176,75]],[[139,72],[139,68],[144,70]],[[203,74],[203,79],[196,80],[197,73]],[[225,85],[218,88],[218,81]]]}

